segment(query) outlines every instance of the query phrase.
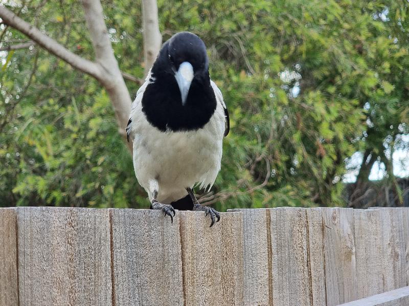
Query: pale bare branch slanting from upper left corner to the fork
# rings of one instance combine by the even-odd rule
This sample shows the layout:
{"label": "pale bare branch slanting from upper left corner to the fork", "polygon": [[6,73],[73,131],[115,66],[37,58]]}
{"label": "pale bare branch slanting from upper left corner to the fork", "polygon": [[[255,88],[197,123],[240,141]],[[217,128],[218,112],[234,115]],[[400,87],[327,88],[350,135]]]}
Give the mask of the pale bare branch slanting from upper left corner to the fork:
{"label": "pale bare branch slanting from upper left corner to the fork", "polygon": [[98,80],[102,78],[103,72],[97,64],[85,60],[67,50],[54,39],[48,37],[45,34],[42,34],[40,30],[34,28],[31,24],[27,23],[26,21],[15,15],[12,11],[6,9],[4,6],[0,6],[0,17],[3,19],[4,23],[27,35],[44,49],[47,49],[51,54],[64,60],[71,66],[77,68],[82,72],[92,75]]}

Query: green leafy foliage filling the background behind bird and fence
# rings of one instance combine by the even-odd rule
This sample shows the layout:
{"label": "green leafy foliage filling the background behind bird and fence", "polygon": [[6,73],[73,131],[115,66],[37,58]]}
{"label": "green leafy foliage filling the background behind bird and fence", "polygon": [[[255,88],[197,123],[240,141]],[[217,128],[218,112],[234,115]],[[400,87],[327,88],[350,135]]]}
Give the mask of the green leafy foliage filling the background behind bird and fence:
{"label": "green leafy foliage filling the background behind bird and fence", "polygon": [[[77,1],[6,2],[93,58]],[[222,170],[202,202],[235,207],[355,206],[375,161],[399,204],[392,154],[409,148],[409,8],[396,1],[158,1],[163,41],[205,41],[231,114]],[[102,1],[122,71],[143,78],[141,4]],[[0,25],[1,46],[27,41]],[[109,98],[38,46],[2,52],[0,206],[147,208]],[[129,91],[139,85],[126,81]],[[343,175],[360,151],[355,184]],[[197,190],[197,192],[199,192]]]}

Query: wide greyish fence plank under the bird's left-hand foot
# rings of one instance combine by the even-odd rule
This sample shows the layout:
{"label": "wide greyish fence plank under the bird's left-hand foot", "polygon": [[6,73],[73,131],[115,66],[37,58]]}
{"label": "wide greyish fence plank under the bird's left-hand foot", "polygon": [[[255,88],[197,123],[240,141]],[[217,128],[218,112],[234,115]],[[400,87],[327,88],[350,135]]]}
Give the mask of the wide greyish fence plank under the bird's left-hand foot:
{"label": "wide greyish fence plank under the bird's left-hand foot", "polygon": [[179,212],[173,223],[161,211],[110,214],[115,305],[183,306]]}

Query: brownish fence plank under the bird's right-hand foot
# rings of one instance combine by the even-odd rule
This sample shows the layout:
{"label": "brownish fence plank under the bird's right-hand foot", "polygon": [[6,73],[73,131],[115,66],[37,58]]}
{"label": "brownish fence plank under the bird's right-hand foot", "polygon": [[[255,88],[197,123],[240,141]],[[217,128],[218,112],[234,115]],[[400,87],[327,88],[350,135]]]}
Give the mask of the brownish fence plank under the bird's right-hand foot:
{"label": "brownish fence plank under the bird's right-hand foot", "polygon": [[204,212],[178,212],[185,305],[243,305],[241,213],[222,213],[209,228]]}

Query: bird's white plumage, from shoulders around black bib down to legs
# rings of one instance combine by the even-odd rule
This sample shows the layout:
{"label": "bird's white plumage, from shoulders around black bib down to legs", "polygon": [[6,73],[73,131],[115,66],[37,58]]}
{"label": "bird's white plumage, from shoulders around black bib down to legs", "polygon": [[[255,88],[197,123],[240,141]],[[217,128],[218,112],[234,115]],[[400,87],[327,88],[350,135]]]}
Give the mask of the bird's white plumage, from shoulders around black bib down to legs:
{"label": "bird's white plumage, from shoulders around black bib down to legs", "polygon": [[[133,140],[133,166],[138,182],[152,200],[152,180],[158,184],[157,200],[170,203],[187,195],[185,188],[211,187],[220,170],[225,107],[220,90],[211,86],[216,110],[202,129],[190,132],[162,132],[151,125],[142,112],[142,96],[150,73],[132,104],[130,135]],[[210,188],[209,188],[210,189]]]}

